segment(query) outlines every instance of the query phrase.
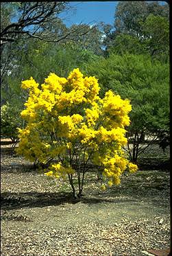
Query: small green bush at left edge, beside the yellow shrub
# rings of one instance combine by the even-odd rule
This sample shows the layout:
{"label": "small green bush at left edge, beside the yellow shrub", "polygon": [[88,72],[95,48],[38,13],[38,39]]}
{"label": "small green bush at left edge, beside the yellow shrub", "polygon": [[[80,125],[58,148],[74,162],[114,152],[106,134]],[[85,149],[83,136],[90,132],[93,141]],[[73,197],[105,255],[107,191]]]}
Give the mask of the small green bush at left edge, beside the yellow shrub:
{"label": "small green bush at left edge, beside the yellow shrub", "polygon": [[1,136],[10,138],[13,143],[18,139],[17,128],[23,127],[20,111],[14,104],[8,102],[1,106]]}

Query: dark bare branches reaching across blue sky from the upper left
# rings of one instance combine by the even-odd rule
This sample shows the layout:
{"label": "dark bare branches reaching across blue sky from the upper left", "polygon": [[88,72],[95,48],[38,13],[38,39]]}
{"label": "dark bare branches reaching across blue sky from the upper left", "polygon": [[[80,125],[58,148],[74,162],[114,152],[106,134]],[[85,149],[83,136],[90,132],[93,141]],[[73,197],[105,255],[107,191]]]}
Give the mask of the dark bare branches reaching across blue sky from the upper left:
{"label": "dark bare branches reaching across blue sky from the upper left", "polygon": [[[37,38],[53,43],[58,43],[61,40],[77,41],[80,36],[84,36],[95,28],[95,26],[90,28],[88,25],[80,23],[68,29],[57,16],[67,9],[66,6],[66,2],[22,3],[19,20],[7,25],[1,31],[1,45],[27,38]],[[60,29],[58,30],[59,22]],[[55,26],[55,24],[57,25]],[[57,32],[49,30],[51,25],[57,27]]]}

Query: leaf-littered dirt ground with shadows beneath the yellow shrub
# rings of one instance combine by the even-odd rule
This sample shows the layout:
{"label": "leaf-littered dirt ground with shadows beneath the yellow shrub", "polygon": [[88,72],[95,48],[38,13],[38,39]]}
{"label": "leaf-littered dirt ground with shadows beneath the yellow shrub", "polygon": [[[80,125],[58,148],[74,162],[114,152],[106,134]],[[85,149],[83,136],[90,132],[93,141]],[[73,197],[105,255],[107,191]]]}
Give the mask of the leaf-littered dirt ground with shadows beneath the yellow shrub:
{"label": "leaf-littered dirt ground with shadows beneath the yellow shrub", "polygon": [[73,200],[68,181],[53,181],[1,145],[1,256],[142,256],[170,246],[170,174],[138,170],[101,191],[86,176]]}

